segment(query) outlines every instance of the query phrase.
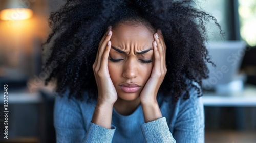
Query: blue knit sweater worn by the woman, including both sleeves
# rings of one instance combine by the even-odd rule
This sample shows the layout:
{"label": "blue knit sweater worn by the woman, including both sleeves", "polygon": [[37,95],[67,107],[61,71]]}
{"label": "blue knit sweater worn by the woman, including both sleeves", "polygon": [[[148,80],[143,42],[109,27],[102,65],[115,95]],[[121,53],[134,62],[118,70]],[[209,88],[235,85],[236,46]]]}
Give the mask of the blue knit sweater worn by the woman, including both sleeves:
{"label": "blue knit sweater worn by the woman, including both sleeves", "polygon": [[170,97],[158,95],[163,117],[144,122],[141,105],[130,115],[114,108],[112,128],[91,123],[96,101],[57,96],[54,127],[57,142],[204,142],[204,110],[197,90],[189,87],[190,98],[172,104]]}

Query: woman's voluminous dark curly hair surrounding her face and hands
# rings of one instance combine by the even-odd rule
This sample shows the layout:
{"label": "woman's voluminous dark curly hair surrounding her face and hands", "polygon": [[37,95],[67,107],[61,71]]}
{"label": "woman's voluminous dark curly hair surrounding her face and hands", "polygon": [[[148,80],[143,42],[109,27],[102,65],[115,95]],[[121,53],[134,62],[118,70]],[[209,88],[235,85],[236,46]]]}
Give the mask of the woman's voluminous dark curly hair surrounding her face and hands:
{"label": "woman's voluminous dark curly hair surrounding her face and hands", "polygon": [[[193,1],[84,1],[70,0],[57,12],[51,13],[49,26],[52,33],[44,45],[51,46],[44,71],[55,64],[46,79],[57,82],[56,92],[70,89],[69,97],[81,98],[85,91],[89,98],[97,98],[97,85],[93,73],[98,43],[111,25],[120,22],[140,22],[154,30],[161,29],[167,46],[167,73],[159,89],[164,96],[172,95],[177,101],[182,92],[189,98],[188,84],[201,96],[200,86],[208,77],[205,62],[211,62],[205,47],[205,22],[217,20],[210,14],[193,7]],[[51,43],[51,44],[50,44]],[[186,82],[187,80],[190,83]]]}

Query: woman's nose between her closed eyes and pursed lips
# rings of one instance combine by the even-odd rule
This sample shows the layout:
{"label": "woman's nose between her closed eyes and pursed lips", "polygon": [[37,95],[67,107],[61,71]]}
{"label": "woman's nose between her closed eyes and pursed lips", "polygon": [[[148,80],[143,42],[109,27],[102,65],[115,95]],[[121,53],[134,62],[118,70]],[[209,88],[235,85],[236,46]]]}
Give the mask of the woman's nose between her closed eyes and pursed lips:
{"label": "woman's nose between her closed eyes and pursed lips", "polygon": [[128,59],[125,62],[122,76],[126,79],[132,79],[138,76],[138,64],[135,59]]}

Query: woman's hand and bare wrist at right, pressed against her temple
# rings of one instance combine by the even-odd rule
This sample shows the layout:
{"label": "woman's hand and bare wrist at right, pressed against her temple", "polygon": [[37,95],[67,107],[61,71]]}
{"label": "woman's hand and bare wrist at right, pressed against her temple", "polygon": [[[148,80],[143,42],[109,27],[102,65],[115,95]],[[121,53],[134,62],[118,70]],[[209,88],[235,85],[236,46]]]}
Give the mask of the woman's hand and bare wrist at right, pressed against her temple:
{"label": "woman's hand and bare wrist at right, pressed against her temple", "polygon": [[154,39],[154,67],[150,78],[147,80],[140,93],[140,102],[145,122],[150,122],[162,117],[157,103],[157,92],[167,72],[165,60],[166,45],[160,30],[157,30],[157,33],[154,34]]}

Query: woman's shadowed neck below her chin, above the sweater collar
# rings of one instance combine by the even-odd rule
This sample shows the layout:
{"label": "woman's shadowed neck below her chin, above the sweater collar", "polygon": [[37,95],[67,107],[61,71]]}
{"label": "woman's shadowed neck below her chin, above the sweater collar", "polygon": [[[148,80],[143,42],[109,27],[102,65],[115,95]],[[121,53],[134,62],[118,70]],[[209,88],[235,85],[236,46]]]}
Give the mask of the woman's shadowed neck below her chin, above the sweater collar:
{"label": "woman's shadowed neck below her chin, above the sweater collar", "polygon": [[137,98],[133,101],[126,101],[118,97],[114,104],[114,108],[121,115],[130,115],[137,109],[139,105],[140,98]]}

